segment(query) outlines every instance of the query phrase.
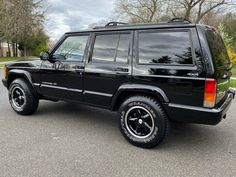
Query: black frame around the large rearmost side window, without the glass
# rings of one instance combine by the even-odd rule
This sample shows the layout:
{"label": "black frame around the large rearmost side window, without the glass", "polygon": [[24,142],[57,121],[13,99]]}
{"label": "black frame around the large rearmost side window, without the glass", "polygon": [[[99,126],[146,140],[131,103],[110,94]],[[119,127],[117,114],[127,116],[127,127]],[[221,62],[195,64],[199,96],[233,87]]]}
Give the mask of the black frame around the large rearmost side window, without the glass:
{"label": "black frame around the large rearmost side window, without the glass", "polygon": [[[161,66],[161,67],[171,67],[171,66],[180,66],[180,67],[195,67],[196,60],[195,60],[195,51],[194,51],[194,44],[192,38],[192,31],[191,29],[148,29],[148,30],[136,30],[136,43],[135,43],[135,62],[139,66]],[[139,34],[140,33],[174,33],[174,32],[187,32],[190,39],[190,47],[192,52],[192,64],[165,64],[165,63],[140,63],[139,62]]]}

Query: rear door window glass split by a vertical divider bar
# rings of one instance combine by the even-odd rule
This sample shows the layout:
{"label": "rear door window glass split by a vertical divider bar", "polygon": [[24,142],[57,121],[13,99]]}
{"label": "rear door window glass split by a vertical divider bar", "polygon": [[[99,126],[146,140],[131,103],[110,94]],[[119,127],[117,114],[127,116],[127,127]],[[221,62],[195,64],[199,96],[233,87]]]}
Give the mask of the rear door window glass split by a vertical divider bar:
{"label": "rear door window glass split by a vertical divider bar", "polygon": [[96,35],[92,61],[128,63],[130,34]]}

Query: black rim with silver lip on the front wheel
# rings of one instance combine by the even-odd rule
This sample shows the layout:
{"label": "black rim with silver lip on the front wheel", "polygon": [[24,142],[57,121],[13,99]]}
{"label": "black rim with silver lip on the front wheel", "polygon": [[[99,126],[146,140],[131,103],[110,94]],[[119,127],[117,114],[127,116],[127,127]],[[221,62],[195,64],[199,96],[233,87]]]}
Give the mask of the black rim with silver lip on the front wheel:
{"label": "black rim with silver lip on the front wheel", "polygon": [[11,101],[16,108],[22,108],[25,104],[25,93],[22,88],[14,87],[11,91]]}

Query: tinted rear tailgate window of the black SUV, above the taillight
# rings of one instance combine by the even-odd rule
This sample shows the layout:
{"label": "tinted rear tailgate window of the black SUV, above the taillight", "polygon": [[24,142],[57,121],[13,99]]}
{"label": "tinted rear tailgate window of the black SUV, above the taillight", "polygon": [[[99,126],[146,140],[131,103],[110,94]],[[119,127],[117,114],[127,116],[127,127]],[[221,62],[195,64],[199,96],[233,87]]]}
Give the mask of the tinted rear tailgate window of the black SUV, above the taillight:
{"label": "tinted rear tailgate window of the black SUV, above the taillight", "polygon": [[212,59],[215,61],[216,66],[221,67],[228,65],[230,63],[230,59],[228,57],[228,53],[221,36],[218,33],[207,30],[206,37],[211,51]]}

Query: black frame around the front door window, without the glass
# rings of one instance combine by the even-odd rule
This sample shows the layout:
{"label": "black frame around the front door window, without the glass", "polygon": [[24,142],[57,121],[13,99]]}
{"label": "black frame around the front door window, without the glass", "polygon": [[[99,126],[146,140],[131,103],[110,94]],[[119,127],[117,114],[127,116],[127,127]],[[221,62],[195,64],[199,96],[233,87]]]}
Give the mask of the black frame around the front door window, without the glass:
{"label": "black frame around the front door window, without the glass", "polygon": [[[58,60],[58,59],[54,59],[53,58],[53,54],[55,53],[55,51],[64,43],[64,41],[69,38],[69,37],[80,37],[80,36],[87,36],[88,40],[87,43],[85,45],[84,48],[84,55],[83,55],[83,59],[82,60]],[[78,62],[78,63],[84,63],[84,61],[86,60],[86,53],[88,52],[88,47],[89,47],[89,42],[90,42],[90,37],[91,34],[90,33],[80,33],[80,34],[72,34],[72,35],[65,35],[62,37],[62,39],[56,44],[56,46],[50,51],[50,60],[51,61],[60,61],[60,62]]]}

